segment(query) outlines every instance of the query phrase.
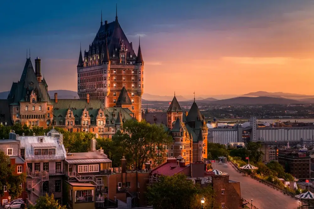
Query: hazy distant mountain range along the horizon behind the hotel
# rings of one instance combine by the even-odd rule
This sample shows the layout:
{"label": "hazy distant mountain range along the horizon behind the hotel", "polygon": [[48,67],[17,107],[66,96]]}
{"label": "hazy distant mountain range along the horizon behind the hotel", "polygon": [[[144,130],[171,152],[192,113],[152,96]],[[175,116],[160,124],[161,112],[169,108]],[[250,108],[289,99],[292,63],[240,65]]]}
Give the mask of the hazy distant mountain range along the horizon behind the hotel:
{"label": "hazy distant mountain range along the horizon behind the hotel", "polygon": [[[69,90],[52,90],[48,91],[50,98],[54,98],[54,93],[58,93],[59,99],[78,99],[76,91]],[[6,99],[8,97],[8,91],[0,92],[0,99]],[[205,97],[204,97],[205,96]],[[143,104],[161,104],[167,105],[172,101],[173,96],[157,96],[144,93]],[[194,99],[193,97],[183,97],[176,95],[178,101],[182,105],[191,104]],[[314,95],[303,95],[303,94],[292,94],[284,92],[267,92],[257,91],[244,94],[242,96],[228,98],[228,99],[216,99],[213,97],[202,97],[195,98],[195,102],[206,105],[206,104],[240,104],[240,105],[265,105],[265,104],[314,104]]]}

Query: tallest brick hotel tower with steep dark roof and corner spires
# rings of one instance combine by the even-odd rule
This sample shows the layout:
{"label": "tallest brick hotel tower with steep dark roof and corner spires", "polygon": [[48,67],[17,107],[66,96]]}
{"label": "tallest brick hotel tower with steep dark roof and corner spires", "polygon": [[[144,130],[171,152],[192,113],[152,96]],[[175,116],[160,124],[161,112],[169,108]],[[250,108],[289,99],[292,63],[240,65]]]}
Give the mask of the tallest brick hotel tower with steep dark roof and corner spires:
{"label": "tallest brick hotel tower with steep dark roof and corner spires", "polygon": [[[83,64],[81,64],[83,60]],[[84,51],[78,64],[78,96],[100,99],[105,107],[115,107],[121,89],[124,87],[130,100],[130,110],[139,121],[142,119],[144,61],[139,44],[135,54],[132,42],[127,40],[116,15],[116,19],[100,28]]]}

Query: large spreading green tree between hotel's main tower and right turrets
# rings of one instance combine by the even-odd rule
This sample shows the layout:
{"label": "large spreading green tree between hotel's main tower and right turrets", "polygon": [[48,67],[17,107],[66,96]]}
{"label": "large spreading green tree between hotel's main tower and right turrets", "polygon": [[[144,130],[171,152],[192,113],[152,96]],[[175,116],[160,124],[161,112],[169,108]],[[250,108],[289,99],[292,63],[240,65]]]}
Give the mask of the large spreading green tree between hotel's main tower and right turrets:
{"label": "large spreading green tree between hotel's main tower and right turrets", "polygon": [[120,144],[130,157],[127,160],[135,169],[141,170],[149,160],[160,162],[160,154],[165,152],[166,146],[173,139],[162,125],[149,124],[144,120],[128,120],[123,123],[122,131],[113,136],[112,141]]}

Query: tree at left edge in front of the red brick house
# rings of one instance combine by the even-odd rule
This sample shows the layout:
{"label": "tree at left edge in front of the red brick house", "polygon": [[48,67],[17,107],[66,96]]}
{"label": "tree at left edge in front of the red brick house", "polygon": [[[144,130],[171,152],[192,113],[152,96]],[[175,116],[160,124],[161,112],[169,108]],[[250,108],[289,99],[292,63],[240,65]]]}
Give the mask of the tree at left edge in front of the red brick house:
{"label": "tree at left edge in front of the red brick house", "polygon": [[[15,165],[10,164],[9,156],[0,150],[0,188],[6,186],[7,192],[14,200],[24,191],[20,185],[26,181],[26,176],[24,174],[15,174]],[[0,195],[4,195],[3,189],[0,190]]]}

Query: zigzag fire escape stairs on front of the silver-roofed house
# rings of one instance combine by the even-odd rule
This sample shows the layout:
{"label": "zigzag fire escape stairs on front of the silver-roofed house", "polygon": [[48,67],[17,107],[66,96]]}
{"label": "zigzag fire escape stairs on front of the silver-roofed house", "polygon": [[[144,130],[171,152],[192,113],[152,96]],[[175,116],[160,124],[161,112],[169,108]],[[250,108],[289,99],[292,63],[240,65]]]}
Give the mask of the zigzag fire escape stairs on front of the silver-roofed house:
{"label": "zigzag fire escape stairs on front of the silver-roofed house", "polygon": [[[37,197],[41,196],[41,191],[38,191],[35,187],[39,185],[39,189],[42,190],[42,184],[44,181],[49,180],[49,173],[45,170],[42,171],[30,171],[29,167],[26,167],[26,175],[31,179],[27,180],[27,190],[31,191],[31,197],[33,200],[33,195]],[[38,188],[38,187],[37,187]]]}

